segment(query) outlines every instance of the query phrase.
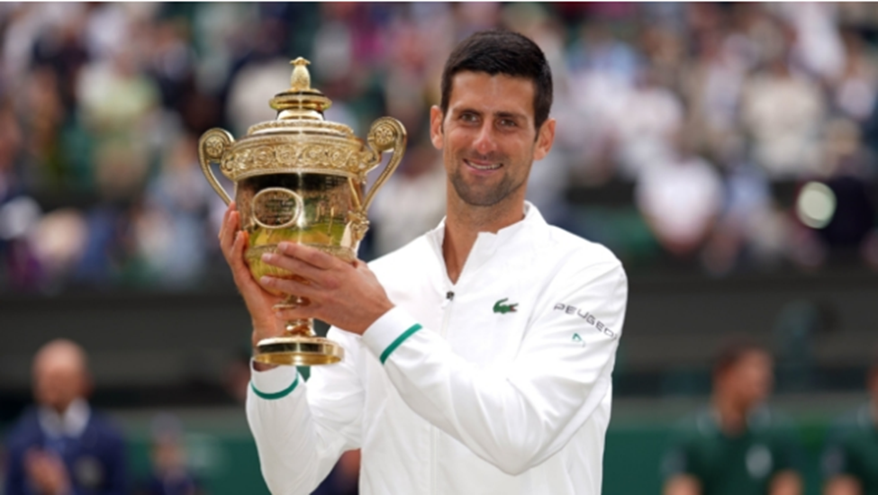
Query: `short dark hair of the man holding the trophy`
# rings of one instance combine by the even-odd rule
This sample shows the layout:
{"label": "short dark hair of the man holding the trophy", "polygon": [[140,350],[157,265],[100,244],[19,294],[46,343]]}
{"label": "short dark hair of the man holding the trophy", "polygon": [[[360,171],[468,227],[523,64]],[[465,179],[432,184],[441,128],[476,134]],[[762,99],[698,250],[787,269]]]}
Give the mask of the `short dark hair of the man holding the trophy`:
{"label": "short dark hair of the man holding the trophy", "polygon": [[539,130],[552,108],[552,70],[543,50],[517,32],[479,31],[461,41],[442,70],[442,113],[448,112],[451,83],[458,72],[484,72],[490,76],[523,77],[534,85],[534,126]]}

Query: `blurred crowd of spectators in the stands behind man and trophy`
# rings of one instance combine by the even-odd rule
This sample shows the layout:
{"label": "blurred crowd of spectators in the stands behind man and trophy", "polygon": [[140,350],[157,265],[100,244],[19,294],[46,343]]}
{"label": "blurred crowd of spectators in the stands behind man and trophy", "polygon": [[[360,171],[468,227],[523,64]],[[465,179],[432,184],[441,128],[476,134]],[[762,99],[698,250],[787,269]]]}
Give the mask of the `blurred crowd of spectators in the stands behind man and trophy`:
{"label": "blurred crowd of spectators in the stands behind man and trophy", "polygon": [[548,220],[635,272],[878,267],[874,4],[2,4],[0,290],[204,286],[224,204],[197,139],[273,119],[300,55],[328,120],[408,129],[360,254],[401,246],[444,211],[442,61],[493,27],[553,69]]}

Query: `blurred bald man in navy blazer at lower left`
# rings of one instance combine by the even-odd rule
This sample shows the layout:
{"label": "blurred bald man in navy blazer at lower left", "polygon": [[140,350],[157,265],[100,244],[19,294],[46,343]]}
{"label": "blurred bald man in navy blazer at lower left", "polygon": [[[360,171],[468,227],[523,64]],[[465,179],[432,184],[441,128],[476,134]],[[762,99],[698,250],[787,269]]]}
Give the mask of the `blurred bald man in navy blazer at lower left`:
{"label": "blurred bald man in navy blazer at lower left", "polygon": [[33,359],[34,398],[8,438],[6,495],[127,493],[125,446],[88,406],[86,353],[52,340]]}

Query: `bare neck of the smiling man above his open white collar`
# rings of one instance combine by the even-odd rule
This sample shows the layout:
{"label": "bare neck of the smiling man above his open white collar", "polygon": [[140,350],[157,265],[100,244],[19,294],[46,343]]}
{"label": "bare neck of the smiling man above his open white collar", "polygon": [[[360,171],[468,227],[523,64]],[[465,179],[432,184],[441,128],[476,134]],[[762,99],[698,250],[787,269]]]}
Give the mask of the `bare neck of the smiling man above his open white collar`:
{"label": "bare neck of the smiling man above his open white collar", "polygon": [[452,284],[457,284],[479,232],[497,233],[522,220],[524,200],[509,198],[515,201],[503,201],[493,206],[471,206],[451,196],[449,194],[442,257],[445,258],[448,279]]}

